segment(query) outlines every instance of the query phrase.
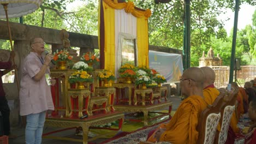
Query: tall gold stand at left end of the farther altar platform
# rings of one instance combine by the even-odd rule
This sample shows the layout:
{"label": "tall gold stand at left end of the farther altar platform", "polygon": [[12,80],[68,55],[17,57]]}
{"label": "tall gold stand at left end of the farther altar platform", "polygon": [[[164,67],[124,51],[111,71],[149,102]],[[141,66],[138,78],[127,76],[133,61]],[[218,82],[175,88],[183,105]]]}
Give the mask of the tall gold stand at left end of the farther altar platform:
{"label": "tall gold stand at left end of the farther altar platform", "polygon": [[[129,105],[132,104],[132,89],[134,89],[136,86],[134,83],[113,83],[113,87],[117,88],[117,91],[119,92],[120,89],[128,88],[128,98],[129,98]],[[117,95],[117,99],[115,101],[116,104],[119,104],[119,95]]]}

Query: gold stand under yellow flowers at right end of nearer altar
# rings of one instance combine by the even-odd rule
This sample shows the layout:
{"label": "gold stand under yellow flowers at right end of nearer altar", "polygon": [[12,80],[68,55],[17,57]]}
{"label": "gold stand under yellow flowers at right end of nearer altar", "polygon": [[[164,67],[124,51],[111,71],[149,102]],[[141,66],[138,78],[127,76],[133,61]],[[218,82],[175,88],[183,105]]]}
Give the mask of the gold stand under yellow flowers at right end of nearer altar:
{"label": "gold stand under yellow flowers at right end of nearer altar", "polygon": [[114,111],[115,88],[114,87],[95,87],[95,96],[108,98],[108,107]]}

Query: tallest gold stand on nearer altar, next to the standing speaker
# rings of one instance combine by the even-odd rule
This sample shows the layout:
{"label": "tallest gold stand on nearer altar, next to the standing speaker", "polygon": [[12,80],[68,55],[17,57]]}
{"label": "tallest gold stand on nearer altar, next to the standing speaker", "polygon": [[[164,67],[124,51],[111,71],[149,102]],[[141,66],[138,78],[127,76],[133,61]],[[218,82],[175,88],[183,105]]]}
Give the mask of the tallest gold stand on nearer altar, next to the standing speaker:
{"label": "tallest gold stand on nearer altar, next to the standing speaker", "polygon": [[[62,108],[64,108],[66,110],[66,117],[71,116],[71,101],[68,98],[68,87],[69,87],[69,76],[74,73],[75,70],[71,70],[71,69],[66,69],[66,70],[60,70],[60,69],[51,69],[50,73],[51,73],[51,77],[53,77],[53,79],[57,79],[57,81],[61,80],[62,82],[59,82],[61,84],[61,88],[60,88],[60,92],[61,92],[61,99],[62,99],[62,104],[63,107],[59,106],[59,83],[56,82],[56,85],[54,86],[54,88],[57,89],[57,92],[53,93],[52,91],[52,95],[53,95],[53,101],[55,102],[54,106],[55,106],[55,111],[57,110],[62,110]],[[52,90],[54,88],[51,88]]]}

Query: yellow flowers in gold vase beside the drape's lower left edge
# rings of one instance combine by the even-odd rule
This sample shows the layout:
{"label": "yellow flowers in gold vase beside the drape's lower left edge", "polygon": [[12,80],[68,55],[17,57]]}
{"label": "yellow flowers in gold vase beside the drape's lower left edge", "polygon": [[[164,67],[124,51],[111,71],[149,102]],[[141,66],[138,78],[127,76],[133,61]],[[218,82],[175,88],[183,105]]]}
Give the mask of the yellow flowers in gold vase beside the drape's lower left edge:
{"label": "yellow flowers in gold vase beside the drape's lower left edge", "polygon": [[104,69],[98,73],[98,79],[103,81],[104,87],[109,87],[109,81],[114,81],[115,75],[112,71]]}

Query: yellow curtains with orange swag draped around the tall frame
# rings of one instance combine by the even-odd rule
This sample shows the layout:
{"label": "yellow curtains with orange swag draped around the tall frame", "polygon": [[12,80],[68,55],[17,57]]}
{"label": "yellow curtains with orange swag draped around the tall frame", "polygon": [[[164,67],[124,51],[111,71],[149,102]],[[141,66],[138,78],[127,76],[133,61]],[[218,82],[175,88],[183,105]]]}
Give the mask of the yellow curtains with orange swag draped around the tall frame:
{"label": "yellow curtains with orange swag draped around the tall frame", "polygon": [[[148,67],[148,17],[150,17],[151,11],[149,9],[146,11],[137,10],[133,2],[102,1],[104,37],[98,32],[98,41],[100,45],[100,39],[104,38],[104,69],[115,71],[115,9],[125,9],[126,13],[131,13],[137,17],[138,66],[144,65]],[[99,25],[100,17],[98,16]],[[101,31],[100,27],[99,31]]]}

